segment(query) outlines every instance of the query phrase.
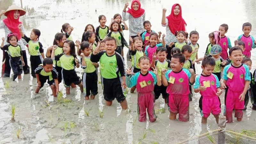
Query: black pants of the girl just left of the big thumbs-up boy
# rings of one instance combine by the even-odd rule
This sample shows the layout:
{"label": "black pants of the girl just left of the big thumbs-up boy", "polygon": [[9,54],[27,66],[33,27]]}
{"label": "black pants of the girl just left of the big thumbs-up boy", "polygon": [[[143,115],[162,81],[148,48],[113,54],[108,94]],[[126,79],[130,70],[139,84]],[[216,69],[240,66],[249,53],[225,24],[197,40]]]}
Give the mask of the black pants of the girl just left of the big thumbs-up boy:
{"label": "black pants of the girl just left of the big thumbs-up boy", "polygon": [[84,73],[82,82],[84,86],[84,96],[98,94],[98,75],[96,71],[92,73]]}

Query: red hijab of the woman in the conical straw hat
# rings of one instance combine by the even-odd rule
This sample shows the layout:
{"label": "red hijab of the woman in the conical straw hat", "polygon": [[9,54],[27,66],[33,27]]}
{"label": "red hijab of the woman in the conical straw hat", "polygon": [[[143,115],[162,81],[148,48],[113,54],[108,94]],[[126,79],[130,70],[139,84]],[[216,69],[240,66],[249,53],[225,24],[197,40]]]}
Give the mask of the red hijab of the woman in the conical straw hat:
{"label": "red hijab of the woman in the conical straw hat", "polygon": [[20,21],[20,17],[18,19],[14,19],[14,12],[16,10],[12,10],[8,13],[7,18],[3,20],[5,26],[11,30],[12,33],[15,33],[18,35],[18,39],[20,40],[20,30],[18,28],[19,24],[22,24]]}

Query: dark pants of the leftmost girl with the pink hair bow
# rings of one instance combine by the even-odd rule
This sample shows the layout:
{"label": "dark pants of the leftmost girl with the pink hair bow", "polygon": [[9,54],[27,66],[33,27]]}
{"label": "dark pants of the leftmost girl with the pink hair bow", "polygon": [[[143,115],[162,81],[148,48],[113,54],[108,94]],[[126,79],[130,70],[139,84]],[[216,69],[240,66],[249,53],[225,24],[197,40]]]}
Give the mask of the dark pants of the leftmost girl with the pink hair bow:
{"label": "dark pants of the leftmost girl with the pink hair bow", "polygon": [[10,65],[13,71],[13,81],[22,74],[22,61],[20,57],[11,57]]}

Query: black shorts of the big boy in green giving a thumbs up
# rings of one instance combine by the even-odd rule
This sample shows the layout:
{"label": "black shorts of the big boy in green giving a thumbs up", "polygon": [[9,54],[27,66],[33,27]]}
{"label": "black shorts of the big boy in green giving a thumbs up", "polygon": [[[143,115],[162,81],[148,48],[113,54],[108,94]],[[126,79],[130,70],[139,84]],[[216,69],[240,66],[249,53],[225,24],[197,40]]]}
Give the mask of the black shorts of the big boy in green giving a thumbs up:
{"label": "black shorts of the big boy in green giving a thumbs up", "polygon": [[112,79],[103,78],[103,85],[103,95],[105,100],[113,101],[115,100],[115,98],[118,102],[122,102],[125,100],[119,77]]}

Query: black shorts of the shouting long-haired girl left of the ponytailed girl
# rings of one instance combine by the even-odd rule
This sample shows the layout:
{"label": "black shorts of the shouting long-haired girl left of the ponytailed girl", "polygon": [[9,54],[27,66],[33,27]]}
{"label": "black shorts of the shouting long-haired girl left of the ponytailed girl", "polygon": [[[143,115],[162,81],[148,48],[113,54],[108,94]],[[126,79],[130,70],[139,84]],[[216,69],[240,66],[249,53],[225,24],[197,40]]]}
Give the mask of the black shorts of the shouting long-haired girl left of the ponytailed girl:
{"label": "black shorts of the shouting long-haired girl left of the ponytailed girl", "polygon": [[61,72],[62,72],[62,79],[65,87],[69,87],[71,83],[78,85],[82,82],[81,78],[76,75],[75,69],[72,69],[72,70],[62,69]]}

